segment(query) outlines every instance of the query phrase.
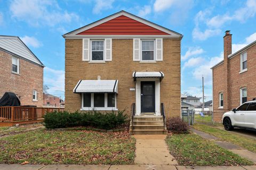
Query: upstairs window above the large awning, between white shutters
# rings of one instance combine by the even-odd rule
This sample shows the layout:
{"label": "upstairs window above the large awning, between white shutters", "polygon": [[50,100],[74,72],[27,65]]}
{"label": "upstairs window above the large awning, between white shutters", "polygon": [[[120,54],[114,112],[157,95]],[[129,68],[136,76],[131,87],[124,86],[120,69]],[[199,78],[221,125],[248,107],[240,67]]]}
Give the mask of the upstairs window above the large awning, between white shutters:
{"label": "upstairs window above the large awning, between white shutters", "polygon": [[103,61],[104,60],[104,41],[103,40],[92,40],[91,41],[91,60],[92,61]]}

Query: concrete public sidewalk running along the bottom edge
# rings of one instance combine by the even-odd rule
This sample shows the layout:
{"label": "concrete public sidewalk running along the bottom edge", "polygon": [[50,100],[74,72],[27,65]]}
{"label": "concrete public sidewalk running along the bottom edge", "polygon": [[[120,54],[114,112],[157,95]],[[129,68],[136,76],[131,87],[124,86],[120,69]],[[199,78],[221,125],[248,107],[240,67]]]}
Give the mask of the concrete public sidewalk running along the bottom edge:
{"label": "concrete public sidewalk running along the bottom edge", "polygon": [[0,164],[0,170],[254,170],[256,166],[175,166],[175,165],[7,165]]}

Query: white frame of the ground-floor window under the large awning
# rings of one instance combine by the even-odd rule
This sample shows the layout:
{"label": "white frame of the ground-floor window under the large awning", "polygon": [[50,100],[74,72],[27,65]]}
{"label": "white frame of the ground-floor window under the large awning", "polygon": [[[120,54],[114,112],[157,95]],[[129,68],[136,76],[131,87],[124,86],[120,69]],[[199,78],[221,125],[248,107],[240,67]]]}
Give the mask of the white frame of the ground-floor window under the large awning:
{"label": "white frame of the ground-floor window under the large awning", "polygon": [[108,94],[105,93],[104,107],[93,107],[94,106],[94,93],[91,93],[91,107],[84,107],[84,94],[82,93],[82,108],[81,111],[118,111],[116,106],[116,94],[115,94],[115,107],[108,107]]}

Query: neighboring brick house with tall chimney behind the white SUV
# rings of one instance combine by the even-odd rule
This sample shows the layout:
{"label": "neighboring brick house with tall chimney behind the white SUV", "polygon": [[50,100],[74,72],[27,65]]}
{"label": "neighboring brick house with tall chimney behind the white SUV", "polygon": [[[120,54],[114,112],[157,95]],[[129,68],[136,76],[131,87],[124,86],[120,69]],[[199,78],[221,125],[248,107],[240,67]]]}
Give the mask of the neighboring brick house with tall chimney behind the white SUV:
{"label": "neighboring brick house with tall chimney behind the white SUV", "polygon": [[256,41],[232,54],[231,34],[226,31],[224,60],[212,67],[214,121],[256,97]]}

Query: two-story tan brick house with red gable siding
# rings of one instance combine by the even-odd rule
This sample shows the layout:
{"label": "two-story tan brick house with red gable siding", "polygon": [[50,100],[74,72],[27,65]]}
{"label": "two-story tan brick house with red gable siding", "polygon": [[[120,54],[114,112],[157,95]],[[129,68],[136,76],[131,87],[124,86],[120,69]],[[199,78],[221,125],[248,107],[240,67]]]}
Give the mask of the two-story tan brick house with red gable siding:
{"label": "two-story tan brick house with red gable siding", "polygon": [[180,33],[120,11],[63,37],[66,110],[180,116]]}

